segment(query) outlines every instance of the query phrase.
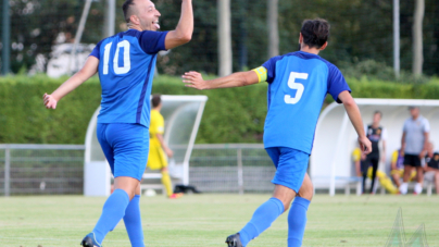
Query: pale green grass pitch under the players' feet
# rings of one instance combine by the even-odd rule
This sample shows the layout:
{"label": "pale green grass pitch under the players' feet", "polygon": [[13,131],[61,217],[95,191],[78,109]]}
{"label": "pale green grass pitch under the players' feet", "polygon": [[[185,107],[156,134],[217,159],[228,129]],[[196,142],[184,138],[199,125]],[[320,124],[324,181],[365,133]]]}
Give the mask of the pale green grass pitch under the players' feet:
{"label": "pale green grass pitch under the players' feet", "polygon": [[[201,195],[168,200],[141,198],[147,246],[223,246],[268,195]],[[105,198],[40,196],[0,198],[0,246],[79,246],[91,231]],[[425,223],[429,246],[439,246],[439,197],[315,196],[308,212],[303,246],[385,246],[398,208],[406,238]],[[287,214],[249,247],[287,246]],[[129,246],[121,222],[104,247]]]}

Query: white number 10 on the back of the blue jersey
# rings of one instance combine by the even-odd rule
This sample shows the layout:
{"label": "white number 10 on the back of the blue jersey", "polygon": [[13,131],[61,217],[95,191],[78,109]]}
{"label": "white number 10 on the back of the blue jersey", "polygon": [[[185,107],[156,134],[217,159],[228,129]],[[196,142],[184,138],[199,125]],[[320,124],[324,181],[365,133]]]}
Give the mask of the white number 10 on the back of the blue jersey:
{"label": "white number 10 on the back of the blue jersey", "polygon": [[[109,74],[110,49],[112,42],[105,45],[103,50],[103,67],[102,74]],[[118,66],[118,53],[121,48],[124,48],[124,66]],[[128,40],[120,41],[117,44],[116,53],[113,59],[113,70],[116,75],[126,74],[131,69],[131,61],[129,60],[129,42]]]}

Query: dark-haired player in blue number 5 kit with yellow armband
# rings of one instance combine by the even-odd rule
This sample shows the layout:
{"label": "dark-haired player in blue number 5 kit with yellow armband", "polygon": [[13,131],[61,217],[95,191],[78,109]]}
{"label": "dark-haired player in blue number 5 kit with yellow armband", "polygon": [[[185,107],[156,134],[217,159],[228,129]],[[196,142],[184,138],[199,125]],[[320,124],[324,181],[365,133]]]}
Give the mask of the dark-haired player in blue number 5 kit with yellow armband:
{"label": "dark-haired player in blue number 5 kit with yellow armband", "polygon": [[301,246],[306,224],[306,211],[313,197],[313,185],[306,174],[315,127],[327,94],[343,103],[359,135],[364,153],[371,152],[360,110],[340,71],[318,57],[327,47],[329,23],[325,20],[303,22],[300,51],[269,59],[249,72],[203,81],[198,72],[183,75],[186,86],[197,89],[240,87],[268,83],[268,113],[264,127],[264,146],[272,158],[276,174],[273,197],[261,205],[250,222],[237,234],[227,237],[229,247],[242,247],[259,236],[286,210],[288,246]]}

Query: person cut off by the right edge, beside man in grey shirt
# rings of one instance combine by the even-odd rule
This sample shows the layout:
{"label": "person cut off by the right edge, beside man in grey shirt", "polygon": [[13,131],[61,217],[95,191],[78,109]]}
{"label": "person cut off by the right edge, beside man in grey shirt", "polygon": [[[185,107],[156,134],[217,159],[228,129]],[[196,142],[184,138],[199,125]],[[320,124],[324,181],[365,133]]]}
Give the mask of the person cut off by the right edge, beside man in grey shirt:
{"label": "person cut off by the right edge, beside man in grey shirt", "polygon": [[423,151],[424,158],[424,178],[435,183],[436,193],[439,195],[439,152],[434,151],[434,145],[428,143],[427,149]]}

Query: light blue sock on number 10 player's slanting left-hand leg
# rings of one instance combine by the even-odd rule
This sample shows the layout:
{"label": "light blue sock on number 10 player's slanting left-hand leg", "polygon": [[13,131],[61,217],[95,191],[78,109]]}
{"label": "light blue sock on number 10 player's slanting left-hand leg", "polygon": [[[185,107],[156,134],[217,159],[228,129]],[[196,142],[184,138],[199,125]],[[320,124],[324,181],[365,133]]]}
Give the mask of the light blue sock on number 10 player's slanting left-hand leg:
{"label": "light blue sock on number 10 player's slanting left-hand leg", "polygon": [[99,218],[92,233],[95,233],[96,240],[102,244],[105,235],[116,227],[117,223],[125,214],[125,209],[129,203],[128,194],[123,189],[116,189],[111,194],[103,205],[101,218]]}

